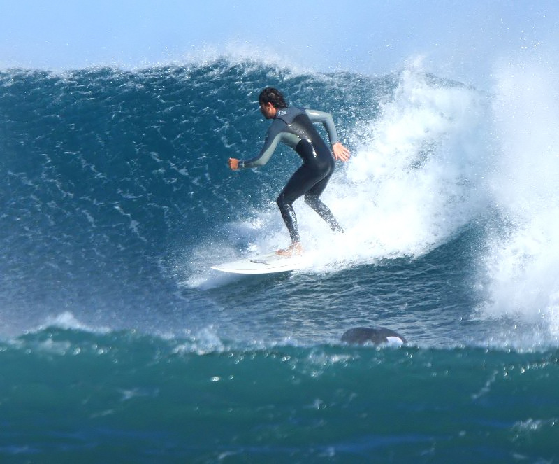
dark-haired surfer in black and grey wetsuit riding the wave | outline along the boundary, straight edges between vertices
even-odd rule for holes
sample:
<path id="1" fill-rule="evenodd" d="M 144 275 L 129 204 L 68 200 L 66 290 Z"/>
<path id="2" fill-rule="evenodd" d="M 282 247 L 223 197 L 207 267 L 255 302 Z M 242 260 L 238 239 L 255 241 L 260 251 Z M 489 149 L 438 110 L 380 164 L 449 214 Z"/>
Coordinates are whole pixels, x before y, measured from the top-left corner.
<path id="1" fill-rule="evenodd" d="M 264 146 L 256 157 L 249 160 L 229 158 L 228 164 L 233 171 L 263 166 L 270 160 L 279 142 L 293 148 L 303 159 L 303 164 L 293 173 L 276 200 L 291 238 L 291 246 L 276 253 L 286 256 L 300 254 L 303 247 L 300 243 L 297 217 L 293 211 L 293 202 L 299 197 L 305 195 L 305 203 L 314 209 L 333 231 L 343 232 L 328 206 L 321 202 L 319 197 L 334 172 L 335 160 L 349 160 L 349 150 L 337 139 L 330 113 L 288 106 L 282 93 L 272 87 L 262 90 L 259 105 L 264 118 L 273 120 L 268 128 Z M 332 151 L 312 122 L 322 122 L 328 133 Z"/>

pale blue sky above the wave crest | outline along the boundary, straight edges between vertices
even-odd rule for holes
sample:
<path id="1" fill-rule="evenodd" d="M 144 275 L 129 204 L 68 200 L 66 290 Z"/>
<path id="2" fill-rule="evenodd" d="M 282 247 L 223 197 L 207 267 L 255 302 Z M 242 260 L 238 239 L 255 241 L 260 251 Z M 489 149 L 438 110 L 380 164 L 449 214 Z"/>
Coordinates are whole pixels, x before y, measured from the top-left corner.
<path id="1" fill-rule="evenodd" d="M 242 49 L 383 74 L 421 55 L 461 80 L 559 43 L 559 1 L 0 0 L 0 67 L 125 68 Z M 521 59 L 521 58 L 520 58 Z"/>

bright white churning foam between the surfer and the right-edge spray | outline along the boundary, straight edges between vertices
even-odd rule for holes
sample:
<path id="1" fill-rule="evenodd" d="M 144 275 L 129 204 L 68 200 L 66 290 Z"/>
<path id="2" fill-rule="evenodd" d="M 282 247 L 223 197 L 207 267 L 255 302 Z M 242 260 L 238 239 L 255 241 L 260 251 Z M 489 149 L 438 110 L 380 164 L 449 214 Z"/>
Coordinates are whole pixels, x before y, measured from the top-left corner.
<path id="1" fill-rule="evenodd" d="M 417 256 L 483 213 L 485 120 L 475 90 L 405 69 L 378 117 L 358 127 L 344 181 L 355 237 L 377 256 Z"/>

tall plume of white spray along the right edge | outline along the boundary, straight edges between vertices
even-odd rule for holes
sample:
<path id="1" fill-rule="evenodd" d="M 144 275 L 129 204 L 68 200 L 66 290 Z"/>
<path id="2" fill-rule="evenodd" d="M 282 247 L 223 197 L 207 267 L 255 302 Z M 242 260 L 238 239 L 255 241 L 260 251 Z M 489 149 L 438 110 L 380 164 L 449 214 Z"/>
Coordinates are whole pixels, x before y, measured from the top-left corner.
<path id="1" fill-rule="evenodd" d="M 559 335 L 558 69 L 528 60 L 495 73 L 491 194 L 504 225 L 488 234 L 488 314 L 520 314 Z"/>

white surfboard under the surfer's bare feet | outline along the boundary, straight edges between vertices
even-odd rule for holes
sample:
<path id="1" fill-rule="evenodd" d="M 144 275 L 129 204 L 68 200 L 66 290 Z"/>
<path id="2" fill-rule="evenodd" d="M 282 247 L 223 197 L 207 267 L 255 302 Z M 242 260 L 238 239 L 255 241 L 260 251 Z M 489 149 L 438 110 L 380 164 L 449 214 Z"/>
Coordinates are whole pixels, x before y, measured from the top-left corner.
<path id="1" fill-rule="evenodd" d="M 294 271 L 307 265 L 310 265 L 310 260 L 305 258 L 305 255 L 279 256 L 275 253 L 269 253 L 224 262 L 221 265 L 212 266 L 212 269 L 233 274 L 273 274 L 274 272 Z"/>

